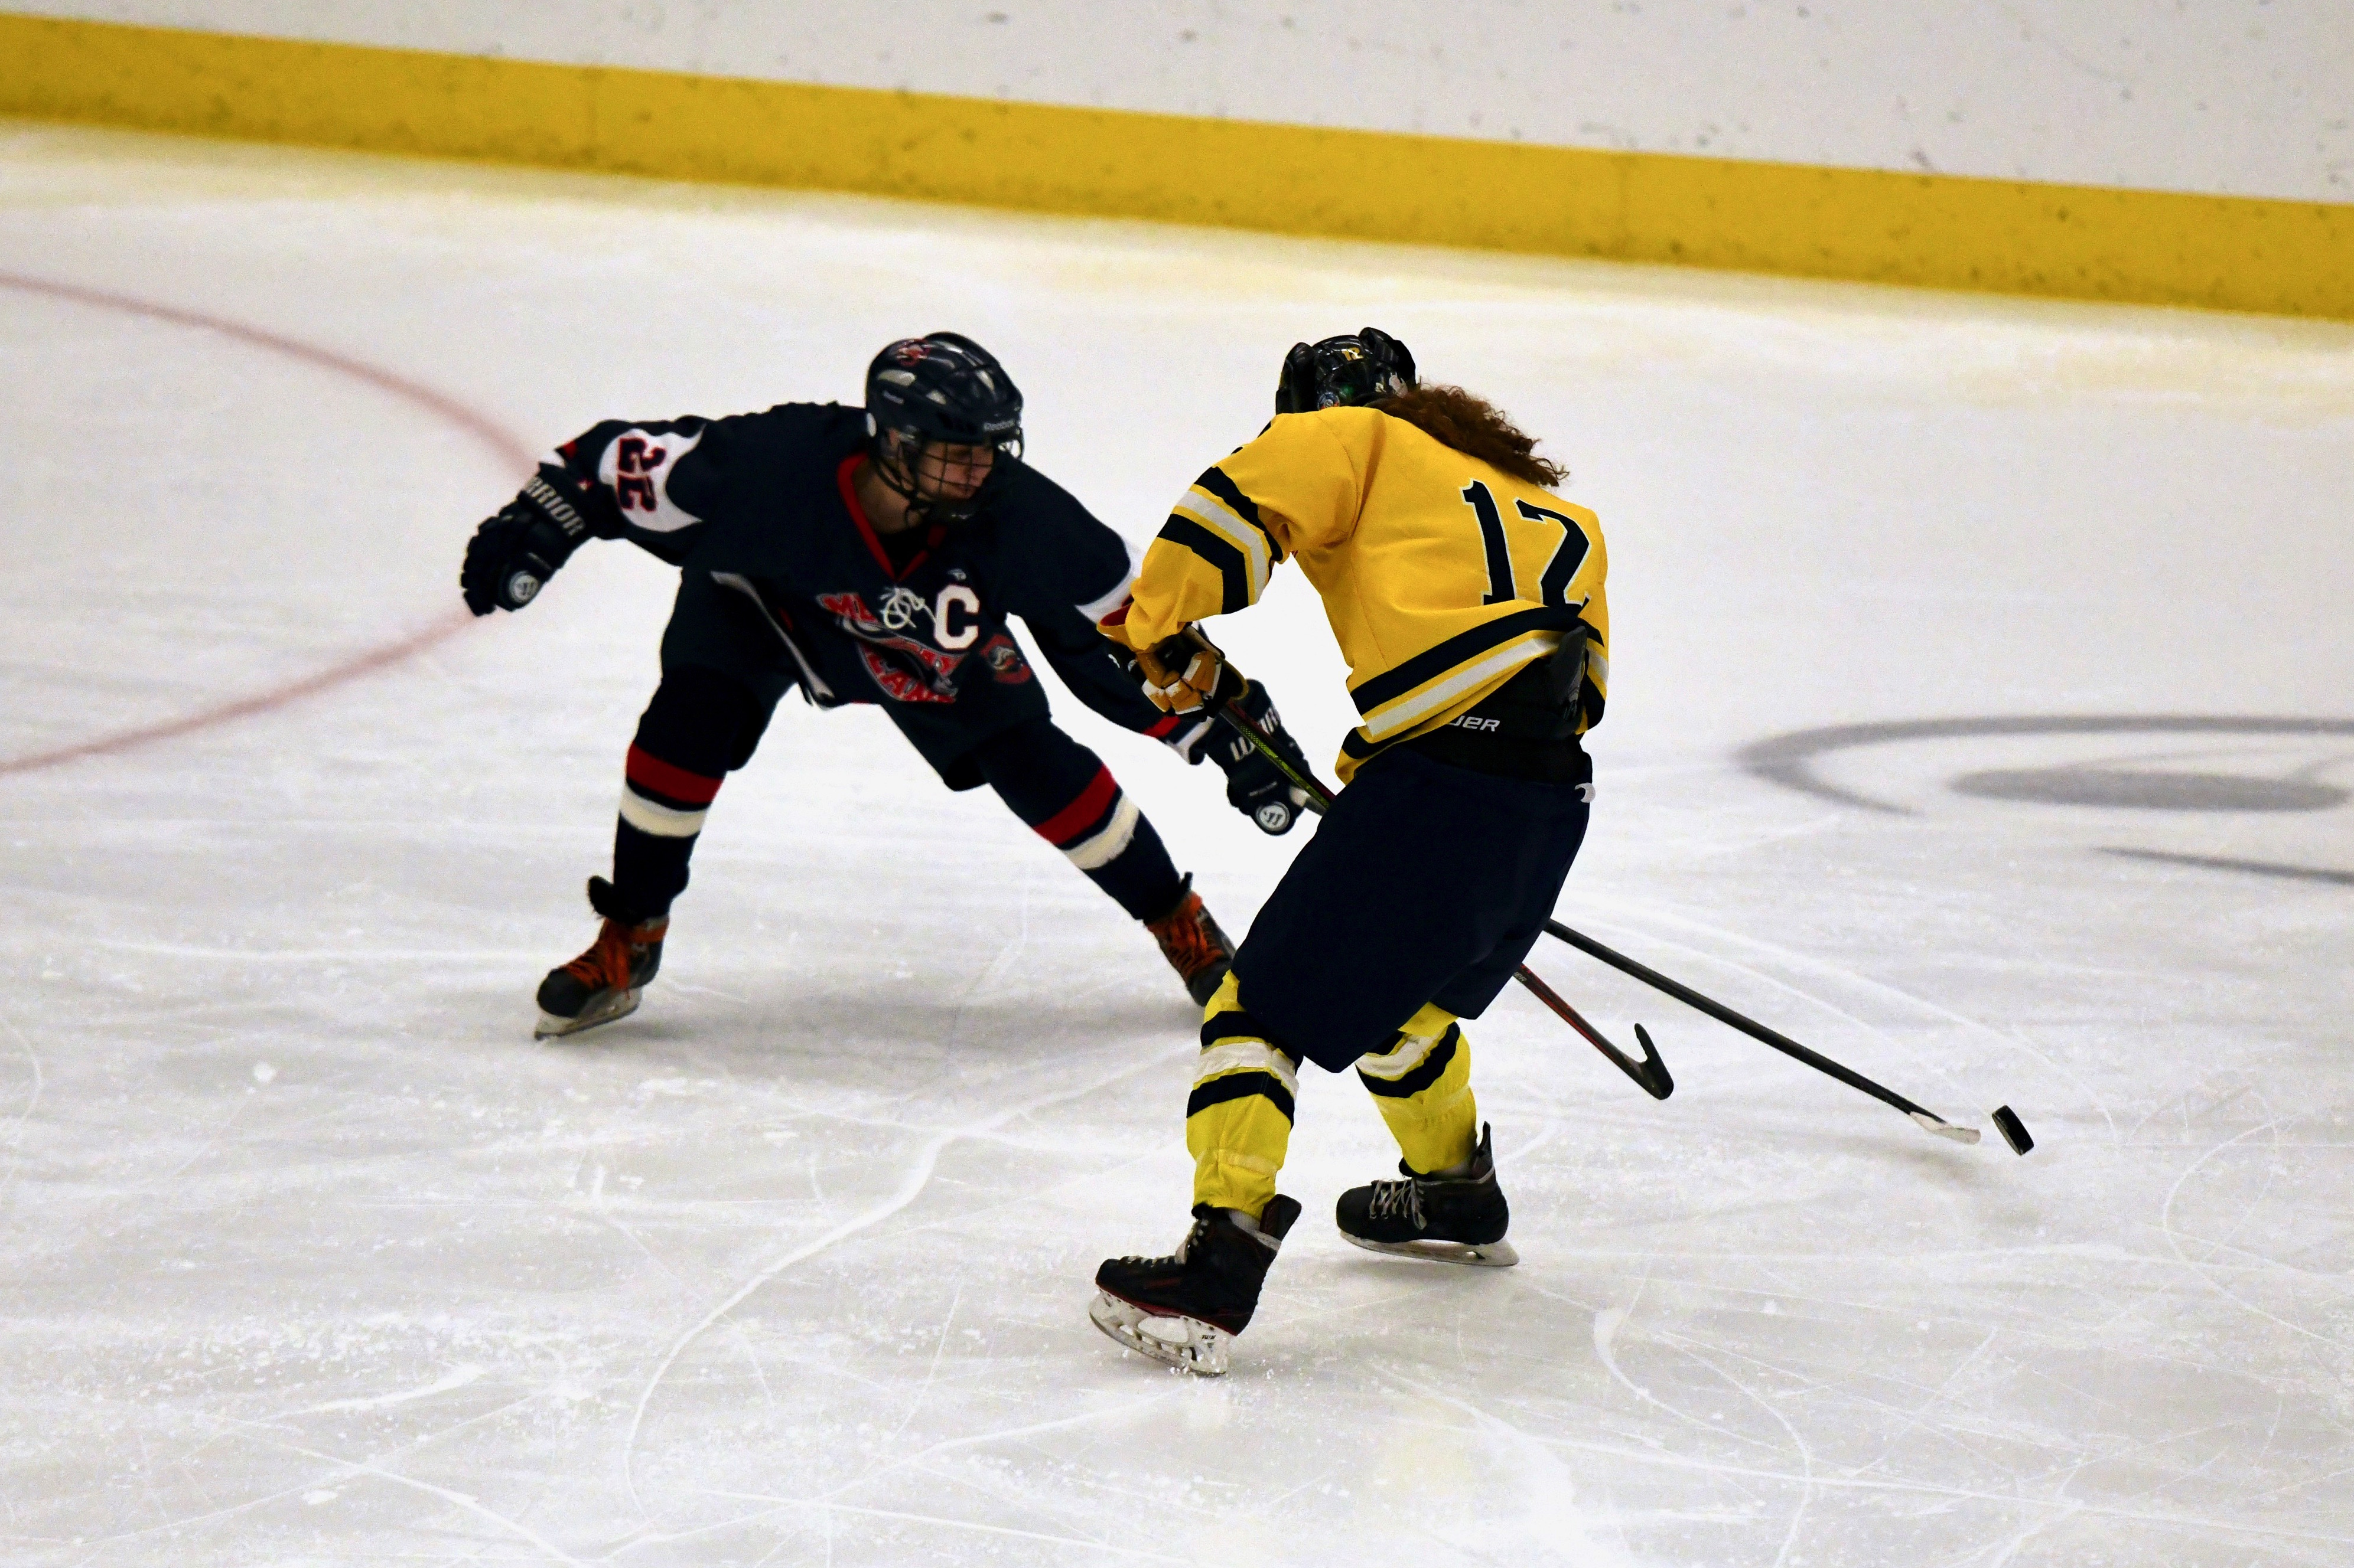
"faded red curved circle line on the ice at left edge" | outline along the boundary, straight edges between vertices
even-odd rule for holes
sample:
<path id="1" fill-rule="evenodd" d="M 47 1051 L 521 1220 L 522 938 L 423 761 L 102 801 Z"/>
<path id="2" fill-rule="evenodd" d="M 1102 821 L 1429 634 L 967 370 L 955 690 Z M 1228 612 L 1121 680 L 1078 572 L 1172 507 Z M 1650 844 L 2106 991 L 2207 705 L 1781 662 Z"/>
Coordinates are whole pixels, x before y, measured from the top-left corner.
<path id="1" fill-rule="evenodd" d="M 85 290 L 73 283 L 52 283 L 47 278 L 26 278 L 21 273 L 0 273 L 0 287 L 16 290 L 24 294 L 45 294 L 49 299 L 68 299 L 73 304 L 99 306 L 104 311 L 122 311 L 127 315 L 144 315 L 148 320 L 172 323 L 177 327 L 195 327 L 200 332 L 217 332 L 221 337 L 250 344 L 254 348 L 268 348 L 271 353 L 282 353 L 304 365 L 315 365 L 320 370 L 332 370 L 337 374 L 351 377 L 381 393 L 391 393 L 412 407 L 454 424 L 466 431 L 501 464 L 513 464 L 516 469 L 532 466 L 532 447 L 518 440 L 513 433 L 501 431 L 490 417 L 466 407 L 457 398 L 433 391 L 410 381 L 407 377 L 393 374 L 379 365 L 355 360 L 334 348 L 320 348 L 318 344 L 304 344 L 264 327 L 250 327 L 245 323 L 224 320 L 219 315 L 205 315 L 202 311 L 184 311 L 179 306 L 155 304 L 151 299 L 132 299 L 129 294 L 108 294 L 104 290 Z M 238 718 L 250 718 L 254 713 L 268 713 L 271 709 L 282 709 L 290 702 L 301 702 L 330 687 L 344 685 L 346 680 L 358 680 L 391 664 L 400 664 L 426 647 L 464 631 L 473 624 L 471 614 L 445 614 L 428 626 L 412 631 L 405 638 L 370 647 L 367 652 L 353 655 L 341 664 L 330 664 L 322 671 L 313 671 L 287 685 L 257 692 L 252 697 L 238 697 L 235 702 L 224 702 L 195 713 L 184 713 L 181 718 L 165 718 L 153 725 L 139 725 L 137 730 L 118 730 L 113 735 L 101 735 L 99 739 L 75 742 L 73 746 L 59 746 L 56 751 L 35 751 L 33 756 L 0 758 L 0 775 L 33 772 L 38 768 L 56 768 L 61 763 L 78 763 L 92 756 L 113 756 L 118 751 L 129 751 L 132 746 L 146 746 L 153 742 L 172 739 L 177 735 L 191 735 L 195 730 L 210 730 L 214 725 L 226 725 Z"/>

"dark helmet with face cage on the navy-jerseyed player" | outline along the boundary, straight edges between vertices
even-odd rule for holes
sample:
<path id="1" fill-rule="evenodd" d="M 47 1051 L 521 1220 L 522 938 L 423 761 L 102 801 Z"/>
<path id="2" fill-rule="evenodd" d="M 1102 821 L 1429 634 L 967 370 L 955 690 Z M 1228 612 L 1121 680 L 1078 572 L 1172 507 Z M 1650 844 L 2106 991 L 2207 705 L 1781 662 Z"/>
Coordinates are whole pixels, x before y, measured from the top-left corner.
<path id="1" fill-rule="evenodd" d="M 904 337 L 866 367 L 866 433 L 883 483 L 925 518 L 956 523 L 982 511 L 1022 461 L 1022 388 L 963 332 Z M 993 450 L 989 478 L 972 497 L 939 497 L 918 483 L 935 445 Z"/>

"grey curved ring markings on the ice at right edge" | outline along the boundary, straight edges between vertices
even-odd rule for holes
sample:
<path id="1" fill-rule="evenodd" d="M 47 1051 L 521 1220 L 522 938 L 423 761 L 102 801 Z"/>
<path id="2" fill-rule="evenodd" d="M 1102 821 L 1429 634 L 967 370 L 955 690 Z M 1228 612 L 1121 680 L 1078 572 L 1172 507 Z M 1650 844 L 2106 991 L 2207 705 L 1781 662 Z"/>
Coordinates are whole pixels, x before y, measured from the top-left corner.
<path id="1" fill-rule="evenodd" d="M 1869 812 L 1919 815 L 1860 789 L 1824 777 L 1822 763 L 1869 746 L 1902 746 L 1954 739 L 2081 739 L 2081 737 L 2267 737 L 2330 739 L 2354 737 L 2347 718 L 2232 718 L 2196 713 L 2088 713 L 2088 716 L 2017 716 L 2017 718 L 1919 718 L 1890 723 L 1827 725 L 1796 730 L 1742 746 L 1737 760 L 1751 777 L 1796 789 L 1817 800 L 1834 800 Z M 2048 763 L 2032 768 L 1980 768 L 1947 782 L 1959 796 L 2010 800 L 2020 805 L 2097 808 L 2126 812 L 2201 812 L 2201 815 L 2300 815 L 2328 812 L 2354 800 L 2354 789 L 2330 784 L 2319 775 L 2354 760 L 2345 746 L 2323 749 L 2302 763 L 2290 758 L 2288 772 L 2250 772 L 2250 758 L 2234 749 L 2210 749 L 2180 756 L 2126 756 Z M 2189 763 L 2189 765 L 2185 765 Z M 2215 768 L 2222 763 L 2225 768 Z M 2239 763 L 2236 768 L 2232 763 Z M 2114 822 L 2114 819 L 2112 819 Z M 2213 871 L 2279 876 L 2326 885 L 2354 885 L 2354 871 L 2335 866 L 2295 866 L 2227 855 L 2177 855 L 2142 848 L 2104 848 L 2149 862 L 2170 862 Z"/>

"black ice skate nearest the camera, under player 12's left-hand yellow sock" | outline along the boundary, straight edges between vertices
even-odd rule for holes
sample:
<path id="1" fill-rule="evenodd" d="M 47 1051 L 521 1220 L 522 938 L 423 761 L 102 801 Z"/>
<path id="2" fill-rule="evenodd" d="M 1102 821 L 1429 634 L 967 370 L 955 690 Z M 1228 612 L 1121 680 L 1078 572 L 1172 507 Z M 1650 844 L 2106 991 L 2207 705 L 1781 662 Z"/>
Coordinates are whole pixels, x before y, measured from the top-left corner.
<path id="1" fill-rule="evenodd" d="M 1095 1271 L 1088 1318 L 1142 1356 L 1219 1377 L 1226 1347 L 1257 1311 L 1266 1264 L 1297 1217 L 1297 1201 L 1274 1196 L 1248 1231 L 1233 1210 L 1196 1203 L 1193 1229 L 1170 1257 L 1111 1257 Z"/>

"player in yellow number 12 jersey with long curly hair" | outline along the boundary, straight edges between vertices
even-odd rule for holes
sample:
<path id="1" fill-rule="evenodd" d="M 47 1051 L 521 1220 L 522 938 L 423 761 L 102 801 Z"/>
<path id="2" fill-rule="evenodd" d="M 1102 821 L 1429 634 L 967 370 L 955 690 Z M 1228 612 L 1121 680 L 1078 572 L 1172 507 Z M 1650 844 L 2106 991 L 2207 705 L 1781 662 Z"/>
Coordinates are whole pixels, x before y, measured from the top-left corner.
<path id="1" fill-rule="evenodd" d="M 1248 687 L 1193 624 L 1250 607 L 1297 558 L 1363 720 L 1346 789 L 1205 1010 L 1193 1227 L 1175 1255 L 1097 1271 L 1090 1318 L 1121 1344 L 1226 1370 L 1299 1217 L 1276 1175 L 1302 1062 L 1356 1067 L 1403 1154 L 1403 1180 L 1339 1196 L 1349 1241 L 1516 1262 L 1459 1019 L 1528 956 L 1594 800 L 1580 737 L 1610 687 L 1605 556 L 1561 478 L 1492 405 L 1417 384 L 1394 337 L 1297 344 L 1276 419 L 1177 499 L 1104 617 L 1156 704 L 1217 709 Z"/>

